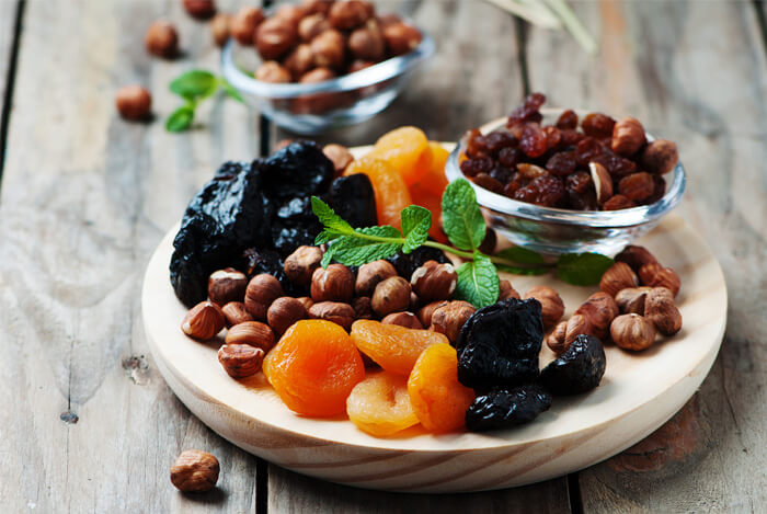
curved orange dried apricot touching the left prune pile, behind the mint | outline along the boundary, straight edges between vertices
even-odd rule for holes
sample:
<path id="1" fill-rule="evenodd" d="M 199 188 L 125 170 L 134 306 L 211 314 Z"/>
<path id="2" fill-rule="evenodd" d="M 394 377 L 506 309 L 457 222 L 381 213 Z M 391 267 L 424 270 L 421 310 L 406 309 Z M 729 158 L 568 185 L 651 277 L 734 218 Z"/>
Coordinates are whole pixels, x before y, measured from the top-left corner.
<path id="1" fill-rule="evenodd" d="M 365 173 L 370 179 L 376 194 L 378 224 L 400 228 L 402 226 L 400 213 L 412 204 L 402 176 L 388 162 L 367 156 L 346 167 L 345 175 L 354 173 Z"/>

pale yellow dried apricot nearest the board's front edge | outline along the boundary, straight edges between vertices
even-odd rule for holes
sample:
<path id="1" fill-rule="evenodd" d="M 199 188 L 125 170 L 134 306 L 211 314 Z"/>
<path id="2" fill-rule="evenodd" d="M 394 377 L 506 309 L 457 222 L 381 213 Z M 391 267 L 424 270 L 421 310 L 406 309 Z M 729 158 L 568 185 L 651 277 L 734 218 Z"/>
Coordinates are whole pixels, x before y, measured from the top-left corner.
<path id="1" fill-rule="evenodd" d="M 408 379 L 387 372 L 365 378 L 346 399 L 346 413 L 357 427 L 386 437 L 419 423 L 410 404 Z"/>

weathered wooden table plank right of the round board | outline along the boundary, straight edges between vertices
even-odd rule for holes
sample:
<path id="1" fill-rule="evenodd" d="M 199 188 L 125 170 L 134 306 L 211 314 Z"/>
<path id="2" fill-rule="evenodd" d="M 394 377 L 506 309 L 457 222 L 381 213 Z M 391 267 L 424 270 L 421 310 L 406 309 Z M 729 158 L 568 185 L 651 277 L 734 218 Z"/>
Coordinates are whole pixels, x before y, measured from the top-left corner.
<path id="1" fill-rule="evenodd" d="M 648 439 L 580 473 L 584 510 L 756 512 L 767 501 L 767 71 L 754 5 L 575 7 L 600 55 L 533 30 L 531 88 L 553 105 L 636 116 L 677 142 L 689 173 L 679 212 L 708 239 L 730 293 L 725 342 L 700 392 Z"/>

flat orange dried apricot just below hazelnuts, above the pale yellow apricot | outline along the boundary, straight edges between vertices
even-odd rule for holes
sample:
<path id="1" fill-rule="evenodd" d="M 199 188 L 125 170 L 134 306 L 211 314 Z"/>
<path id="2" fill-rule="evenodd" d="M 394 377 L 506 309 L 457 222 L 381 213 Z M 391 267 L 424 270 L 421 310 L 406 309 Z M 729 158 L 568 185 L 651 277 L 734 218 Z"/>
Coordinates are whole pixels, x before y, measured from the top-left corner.
<path id="1" fill-rule="evenodd" d="M 419 355 L 432 344 L 448 343 L 447 338 L 437 332 L 371 320 L 355 321 L 351 335 L 360 352 L 398 375 L 409 375 Z"/>

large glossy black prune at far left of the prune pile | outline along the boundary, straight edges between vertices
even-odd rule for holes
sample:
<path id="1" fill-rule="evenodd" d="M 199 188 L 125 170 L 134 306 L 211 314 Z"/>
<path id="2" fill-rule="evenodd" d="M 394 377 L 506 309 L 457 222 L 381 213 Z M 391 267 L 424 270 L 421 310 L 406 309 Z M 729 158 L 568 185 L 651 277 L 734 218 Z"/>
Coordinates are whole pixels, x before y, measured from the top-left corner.
<path id="1" fill-rule="evenodd" d="M 173 240 L 171 284 L 192 307 L 207 296 L 208 275 L 227 267 L 248 247 L 267 244 L 271 204 L 249 163 L 225 163 L 192 198 Z"/>

